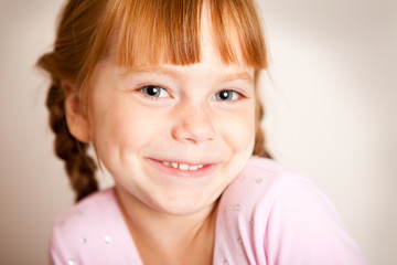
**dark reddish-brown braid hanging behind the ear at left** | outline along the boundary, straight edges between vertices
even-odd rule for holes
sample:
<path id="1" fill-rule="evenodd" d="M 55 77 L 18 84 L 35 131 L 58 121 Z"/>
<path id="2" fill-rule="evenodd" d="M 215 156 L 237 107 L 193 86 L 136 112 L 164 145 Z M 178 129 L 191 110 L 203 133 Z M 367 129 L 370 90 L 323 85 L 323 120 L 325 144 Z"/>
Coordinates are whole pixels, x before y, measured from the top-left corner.
<path id="1" fill-rule="evenodd" d="M 54 149 L 56 156 L 65 161 L 76 201 L 79 201 L 98 190 L 95 179 L 96 165 L 87 155 L 87 144 L 78 141 L 69 134 L 64 102 L 60 82 L 53 82 L 49 89 L 46 106 L 50 110 L 50 126 L 55 134 Z"/>

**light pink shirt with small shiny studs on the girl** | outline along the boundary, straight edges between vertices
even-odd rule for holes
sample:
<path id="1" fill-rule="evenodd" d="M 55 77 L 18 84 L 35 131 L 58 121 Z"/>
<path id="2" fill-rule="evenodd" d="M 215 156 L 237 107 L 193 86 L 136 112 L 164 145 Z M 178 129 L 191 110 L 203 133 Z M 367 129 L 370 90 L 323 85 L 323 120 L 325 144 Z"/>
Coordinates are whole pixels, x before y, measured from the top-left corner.
<path id="1" fill-rule="evenodd" d="M 55 222 L 53 264 L 142 264 L 114 189 Z M 251 158 L 221 197 L 213 264 L 367 264 L 330 200 L 308 179 Z"/>

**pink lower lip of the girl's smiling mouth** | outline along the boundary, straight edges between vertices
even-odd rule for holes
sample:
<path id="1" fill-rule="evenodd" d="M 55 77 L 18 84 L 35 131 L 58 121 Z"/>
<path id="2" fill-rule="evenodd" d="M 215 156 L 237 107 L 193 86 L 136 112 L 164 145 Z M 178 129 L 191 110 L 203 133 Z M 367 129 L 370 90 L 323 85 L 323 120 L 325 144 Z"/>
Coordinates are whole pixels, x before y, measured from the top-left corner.
<path id="1" fill-rule="evenodd" d="M 165 174 L 175 176 L 175 177 L 181 177 L 181 178 L 203 178 L 203 177 L 212 173 L 216 168 L 216 163 L 208 163 L 204 168 L 201 168 L 197 170 L 181 170 L 179 168 L 168 167 L 163 162 L 160 162 L 154 159 L 149 158 L 147 160 L 150 165 L 152 165 L 154 168 L 157 168 L 160 172 L 163 172 Z"/>

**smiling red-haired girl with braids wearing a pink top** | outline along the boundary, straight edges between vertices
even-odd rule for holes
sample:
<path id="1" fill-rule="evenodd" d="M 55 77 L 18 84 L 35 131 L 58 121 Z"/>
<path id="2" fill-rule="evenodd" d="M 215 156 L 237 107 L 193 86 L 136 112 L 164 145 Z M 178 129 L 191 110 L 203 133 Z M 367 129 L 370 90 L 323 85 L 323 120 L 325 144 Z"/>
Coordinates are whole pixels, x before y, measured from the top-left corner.
<path id="1" fill-rule="evenodd" d="M 78 201 L 53 264 L 366 264 L 330 201 L 268 159 L 253 0 L 69 0 L 39 65 Z"/>

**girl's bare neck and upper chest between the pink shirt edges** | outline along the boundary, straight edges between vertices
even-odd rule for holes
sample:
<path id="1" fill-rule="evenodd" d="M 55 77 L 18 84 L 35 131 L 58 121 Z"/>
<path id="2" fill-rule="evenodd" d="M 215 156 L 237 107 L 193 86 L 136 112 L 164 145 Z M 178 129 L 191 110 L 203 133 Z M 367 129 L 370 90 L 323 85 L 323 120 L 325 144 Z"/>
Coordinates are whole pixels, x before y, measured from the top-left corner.
<path id="1" fill-rule="evenodd" d="M 124 188 L 116 187 L 116 194 L 144 264 L 158 262 L 152 253 L 163 258 L 161 264 L 185 264 L 194 253 L 206 259 L 198 264 L 212 263 L 216 203 L 192 214 L 174 215 L 151 209 Z"/>

